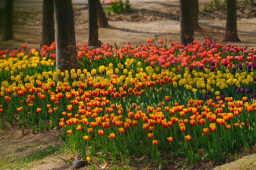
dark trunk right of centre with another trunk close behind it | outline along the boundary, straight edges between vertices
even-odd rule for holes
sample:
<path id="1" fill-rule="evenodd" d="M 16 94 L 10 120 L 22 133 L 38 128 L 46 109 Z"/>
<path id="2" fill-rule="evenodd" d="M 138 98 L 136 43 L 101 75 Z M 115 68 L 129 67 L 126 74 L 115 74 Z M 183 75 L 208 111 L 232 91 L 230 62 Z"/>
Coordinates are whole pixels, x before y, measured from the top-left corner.
<path id="1" fill-rule="evenodd" d="M 180 39 L 182 45 L 187 45 L 194 41 L 191 6 L 192 0 L 180 0 Z"/>

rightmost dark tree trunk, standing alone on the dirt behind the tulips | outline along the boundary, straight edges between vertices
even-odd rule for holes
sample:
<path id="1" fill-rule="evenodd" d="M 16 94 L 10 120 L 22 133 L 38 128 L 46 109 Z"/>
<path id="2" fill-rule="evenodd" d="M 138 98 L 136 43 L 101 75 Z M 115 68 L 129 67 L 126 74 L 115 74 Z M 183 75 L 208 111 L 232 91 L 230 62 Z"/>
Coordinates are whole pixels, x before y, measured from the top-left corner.
<path id="1" fill-rule="evenodd" d="M 240 41 L 236 26 L 236 0 L 226 1 L 226 33 L 225 41 Z"/>

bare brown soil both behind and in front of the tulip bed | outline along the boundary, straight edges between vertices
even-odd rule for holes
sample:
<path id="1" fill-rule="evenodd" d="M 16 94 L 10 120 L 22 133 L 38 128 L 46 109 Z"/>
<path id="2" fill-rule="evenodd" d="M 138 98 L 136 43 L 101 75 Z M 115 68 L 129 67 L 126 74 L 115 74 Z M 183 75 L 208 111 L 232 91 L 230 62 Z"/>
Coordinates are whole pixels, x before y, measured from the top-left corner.
<path id="1" fill-rule="evenodd" d="M 88 41 L 88 1 L 73 0 L 74 18 L 76 27 L 76 43 L 82 45 Z M 121 47 L 125 46 L 128 41 L 132 45 L 146 44 L 147 39 L 153 39 L 156 43 L 160 39 L 171 39 L 180 41 L 180 23 L 179 23 L 179 1 L 178 0 L 130 0 L 132 4 L 131 13 L 111 14 L 108 16 L 108 28 L 99 29 L 99 39 L 103 43 L 116 44 Z M 209 38 L 213 42 L 223 43 L 223 34 L 225 31 L 225 6 L 220 6 L 219 10 L 207 0 L 199 0 L 200 13 L 199 25 L 201 31 L 195 31 L 195 40 L 203 41 Z M 0 8 L 4 4 L 0 2 Z M 238 0 L 237 5 L 237 26 L 238 37 L 241 42 L 235 42 L 238 46 L 256 47 L 256 4 L 246 4 Z M 3 9 L 0 9 L 0 35 L 3 34 Z M 14 0 L 14 40 L 2 41 L 0 39 L 0 50 L 18 49 L 22 44 L 27 43 L 28 49 L 40 48 L 42 36 L 42 0 Z M 227 43 L 227 42 L 226 42 Z M 232 43 L 234 44 L 234 43 Z M 0 160 L 23 158 L 29 154 L 46 148 L 48 145 L 63 145 L 60 141 L 60 131 L 45 131 L 44 133 L 31 134 L 25 129 L 24 135 L 18 125 L 7 125 L 5 131 L 0 131 Z M 34 146 L 26 148 L 26 146 Z M 26 148 L 21 150 L 21 148 Z M 17 150 L 20 150 L 19 152 Z M 189 167 L 188 164 L 180 165 L 183 160 L 175 160 L 174 164 L 166 165 L 168 169 L 234 169 L 241 168 L 255 169 L 256 155 L 253 154 L 255 149 L 243 151 L 236 156 L 228 156 L 227 162 L 220 164 L 212 162 L 200 162 L 196 166 Z M 234 161 L 236 158 L 242 159 Z M 66 152 L 51 154 L 42 160 L 32 162 L 29 169 L 35 170 L 73 170 L 73 166 L 60 160 L 70 159 Z M 72 156 L 71 160 L 75 160 Z M 231 162 L 233 161 L 233 162 Z M 137 162 L 140 162 L 137 160 Z M 139 164 L 132 164 L 129 168 L 145 169 L 145 158 Z M 241 162 L 243 162 L 241 164 Z M 105 168 L 111 168 L 113 165 L 108 164 Z M 154 163 L 148 164 L 149 169 L 158 169 Z M 101 167 L 98 164 L 98 167 Z M 1 169 L 1 168 L 0 168 Z M 81 169 L 90 169 L 84 166 Z M 103 169 L 103 168 L 102 168 Z"/>

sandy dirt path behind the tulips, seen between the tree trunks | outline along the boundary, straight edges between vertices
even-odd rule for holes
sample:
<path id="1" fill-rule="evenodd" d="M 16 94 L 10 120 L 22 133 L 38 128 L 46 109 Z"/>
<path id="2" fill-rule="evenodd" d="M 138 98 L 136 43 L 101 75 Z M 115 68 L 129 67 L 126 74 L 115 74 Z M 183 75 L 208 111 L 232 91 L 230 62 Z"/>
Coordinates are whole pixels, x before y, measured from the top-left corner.
<path id="1" fill-rule="evenodd" d="M 39 48 L 42 36 L 42 15 L 40 12 L 42 10 L 42 0 L 32 0 L 31 2 L 14 0 L 14 2 L 14 12 L 18 15 L 14 25 L 15 39 L 0 41 L 0 50 L 17 49 L 24 43 L 28 43 L 28 48 Z M 82 45 L 88 41 L 88 1 L 73 0 L 73 2 L 76 43 L 77 45 Z M 155 37 L 157 37 L 157 40 L 167 38 L 174 42 L 180 41 L 178 0 L 130 0 L 130 2 L 135 13 L 130 17 L 139 17 L 140 20 L 143 19 L 144 21 L 126 21 L 131 18 L 125 18 L 122 21 L 109 21 L 110 27 L 99 29 L 99 39 L 103 43 L 114 44 L 116 42 L 118 46 L 122 46 L 129 41 L 132 45 L 140 45 L 141 43 L 146 43 L 147 39 L 154 39 Z M 200 6 L 203 6 L 206 2 L 208 1 L 199 0 Z M 3 2 L 0 2 L 0 6 L 4 6 Z M 20 11 L 24 12 L 20 14 Z M 34 13 L 27 14 L 26 12 Z M 241 39 L 241 42 L 236 43 L 238 46 L 256 46 L 255 24 L 255 18 L 238 19 L 238 36 Z M 210 17 L 207 20 L 199 20 L 199 25 L 206 33 L 195 32 L 195 40 L 202 41 L 205 37 L 218 38 L 219 41 L 223 40 L 225 20 L 220 20 L 218 17 Z M 212 32 L 213 30 L 215 30 L 214 33 Z"/>

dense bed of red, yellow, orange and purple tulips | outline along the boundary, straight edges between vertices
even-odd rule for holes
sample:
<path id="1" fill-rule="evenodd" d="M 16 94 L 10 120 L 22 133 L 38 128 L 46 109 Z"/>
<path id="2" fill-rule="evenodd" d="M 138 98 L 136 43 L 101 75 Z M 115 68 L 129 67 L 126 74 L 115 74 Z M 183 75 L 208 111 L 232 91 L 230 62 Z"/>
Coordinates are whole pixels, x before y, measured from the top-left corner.
<path id="1" fill-rule="evenodd" d="M 255 145 L 256 51 L 209 40 L 184 46 L 77 46 L 78 70 L 55 70 L 56 44 L 0 51 L 0 127 L 62 129 L 94 165 L 150 157 L 222 162 Z M 62 80 L 62 81 L 60 81 Z"/>

